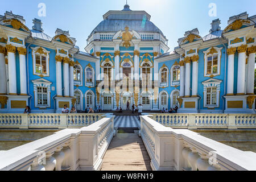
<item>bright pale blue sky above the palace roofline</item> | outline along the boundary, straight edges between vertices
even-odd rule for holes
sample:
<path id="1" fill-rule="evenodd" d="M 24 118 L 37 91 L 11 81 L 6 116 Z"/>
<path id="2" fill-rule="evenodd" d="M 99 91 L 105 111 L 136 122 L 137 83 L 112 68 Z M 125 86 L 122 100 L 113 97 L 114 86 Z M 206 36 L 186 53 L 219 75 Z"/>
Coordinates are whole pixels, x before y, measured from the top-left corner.
<path id="1" fill-rule="evenodd" d="M 39 3 L 46 5 L 45 17 L 38 16 Z M 13 11 L 22 15 L 28 28 L 32 28 L 32 19 L 41 19 L 44 32 L 51 37 L 56 28 L 69 30 L 80 51 L 84 51 L 86 39 L 103 20 L 102 15 L 109 10 L 122 10 L 125 3 L 126 0 L 8 0 L 1 2 L 0 14 Z M 209 16 L 210 3 L 216 4 L 217 16 Z M 230 16 L 245 11 L 249 16 L 256 14 L 255 0 L 128 0 L 128 4 L 131 10 L 144 10 L 151 15 L 151 21 L 169 40 L 170 51 L 185 31 L 198 28 L 200 35 L 205 36 L 213 19 L 219 18 L 224 29 Z"/>

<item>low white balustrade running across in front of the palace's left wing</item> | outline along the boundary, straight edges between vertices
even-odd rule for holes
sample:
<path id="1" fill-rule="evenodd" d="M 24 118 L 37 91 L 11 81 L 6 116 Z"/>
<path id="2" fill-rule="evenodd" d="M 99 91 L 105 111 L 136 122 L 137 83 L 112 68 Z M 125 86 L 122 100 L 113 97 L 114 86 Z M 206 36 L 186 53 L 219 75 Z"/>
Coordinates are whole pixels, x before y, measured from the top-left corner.
<path id="1" fill-rule="evenodd" d="M 104 114 L 0 114 L 0 128 L 80 128 L 104 117 Z"/>

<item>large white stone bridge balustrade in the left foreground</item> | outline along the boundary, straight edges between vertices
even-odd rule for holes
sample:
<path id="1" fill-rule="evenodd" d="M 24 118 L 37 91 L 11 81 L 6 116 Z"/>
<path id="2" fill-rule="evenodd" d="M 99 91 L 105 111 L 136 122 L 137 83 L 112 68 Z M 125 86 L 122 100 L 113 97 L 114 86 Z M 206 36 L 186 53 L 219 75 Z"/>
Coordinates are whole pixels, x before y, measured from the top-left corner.
<path id="1" fill-rule="evenodd" d="M 87 127 L 61 130 L 9 151 L 0 151 L 0 171 L 99 170 L 116 132 L 113 119 L 113 115 L 107 114 Z"/>

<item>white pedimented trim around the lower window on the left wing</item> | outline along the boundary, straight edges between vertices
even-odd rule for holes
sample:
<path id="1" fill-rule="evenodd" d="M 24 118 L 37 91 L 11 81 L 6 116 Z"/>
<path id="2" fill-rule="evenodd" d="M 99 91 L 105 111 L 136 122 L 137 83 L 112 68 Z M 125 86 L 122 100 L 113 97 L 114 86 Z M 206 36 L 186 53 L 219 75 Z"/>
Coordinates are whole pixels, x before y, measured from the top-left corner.
<path id="1" fill-rule="evenodd" d="M 40 78 L 38 80 L 32 80 L 34 84 L 34 101 L 35 101 L 35 107 L 37 108 L 48 108 L 51 107 L 51 85 L 52 82 L 45 80 L 44 78 Z M 38 105 L 38 87 L 46 87 L 47 88 L 47 100 L 48 105 Z"/>

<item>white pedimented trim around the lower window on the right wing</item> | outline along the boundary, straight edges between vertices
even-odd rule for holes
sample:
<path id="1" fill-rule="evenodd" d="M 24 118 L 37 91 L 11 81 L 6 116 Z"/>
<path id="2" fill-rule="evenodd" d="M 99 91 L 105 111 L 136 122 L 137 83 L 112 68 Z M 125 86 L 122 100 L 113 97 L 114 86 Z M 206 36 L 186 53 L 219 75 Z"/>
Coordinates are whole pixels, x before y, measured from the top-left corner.
<path id="1" fill-rule="evenodd" d="M 204 85 L 204 107 L 214 109 L 216 107 L 220 107 L 220 84 L 222 80 L 217 80 L 214 78 L 210 78 L 207 81 L 202 82 Z M 217 94 L 216 94 L 216 105 L 207 105 L 207 88 L 209 87 L 217 87 Z"/>

